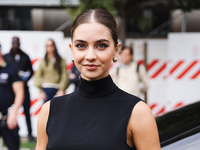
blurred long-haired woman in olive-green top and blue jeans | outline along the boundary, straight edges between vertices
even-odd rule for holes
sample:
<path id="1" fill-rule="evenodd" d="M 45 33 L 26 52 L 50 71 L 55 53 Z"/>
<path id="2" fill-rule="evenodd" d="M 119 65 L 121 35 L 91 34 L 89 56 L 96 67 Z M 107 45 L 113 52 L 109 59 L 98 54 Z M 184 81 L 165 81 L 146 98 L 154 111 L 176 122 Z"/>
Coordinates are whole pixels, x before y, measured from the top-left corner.
<path id="1" fill-rule="evenodd" d="M 34 84 L 40 89 L 40 98 L 45 102 L 55 95 L 64 95 L 68 87 L 66 63 L 52 39 L 46 42 L 46 55 L 35 74 Z"/>

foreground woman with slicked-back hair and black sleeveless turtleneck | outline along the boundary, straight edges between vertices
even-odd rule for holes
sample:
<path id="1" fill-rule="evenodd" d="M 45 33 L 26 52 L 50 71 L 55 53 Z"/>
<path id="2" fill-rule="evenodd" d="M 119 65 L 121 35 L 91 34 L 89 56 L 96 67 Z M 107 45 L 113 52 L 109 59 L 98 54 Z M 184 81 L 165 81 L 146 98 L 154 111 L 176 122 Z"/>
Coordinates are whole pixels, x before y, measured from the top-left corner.
<path id="1" fill-rule="evenodd" d="M 87 10 L 71 29 L 79 88 L 43 105 L 36 150 L 160 150 L 149 107 L 120 90 L 109 75 L 121 46 L 111 14 Z"/>

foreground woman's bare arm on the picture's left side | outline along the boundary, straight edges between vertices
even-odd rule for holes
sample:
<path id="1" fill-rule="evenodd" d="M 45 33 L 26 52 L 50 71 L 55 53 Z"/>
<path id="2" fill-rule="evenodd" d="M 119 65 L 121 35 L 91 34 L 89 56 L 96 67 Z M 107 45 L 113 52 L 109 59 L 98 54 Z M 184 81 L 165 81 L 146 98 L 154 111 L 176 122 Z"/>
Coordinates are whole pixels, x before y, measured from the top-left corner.
<path id="1" fill-rule="evenodd" d="M 46 150 L 48 136 L 46 133 L 46 125 L 49 117 L 50 101 L 46 102 L 40 110 L 38 123 L 37 123 L 37 144 L 36 150 Z"/>

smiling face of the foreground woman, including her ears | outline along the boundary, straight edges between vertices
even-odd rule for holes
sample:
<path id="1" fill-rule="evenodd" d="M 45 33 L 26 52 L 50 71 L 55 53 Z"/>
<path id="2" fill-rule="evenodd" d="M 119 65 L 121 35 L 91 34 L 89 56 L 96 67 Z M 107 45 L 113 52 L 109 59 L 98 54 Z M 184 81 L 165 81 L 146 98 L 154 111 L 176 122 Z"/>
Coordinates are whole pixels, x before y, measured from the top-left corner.
<path id="1" fill-rule="evenodd" d="M 118 56 L 121 44 L 117 47 L 109 29 L 99 23 L 79 25 L 69 44 L 76 67 L 86 80 L 98 80 L 109 75 L 113 57 Z"/>

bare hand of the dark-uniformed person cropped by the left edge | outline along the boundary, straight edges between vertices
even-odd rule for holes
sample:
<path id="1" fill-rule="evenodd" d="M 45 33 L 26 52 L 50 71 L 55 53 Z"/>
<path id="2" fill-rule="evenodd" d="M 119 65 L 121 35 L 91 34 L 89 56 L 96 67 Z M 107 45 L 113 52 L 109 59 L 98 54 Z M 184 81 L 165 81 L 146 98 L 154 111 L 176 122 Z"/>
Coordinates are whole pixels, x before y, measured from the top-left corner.
<path id="1" fill-rule="evenodd" d="M 8 129 L 12 130 L 16 128 L 17 127 L 17 113 L 12 111 L 8 115 L 8 119 L 6 123 L 7 123 Z"/>

